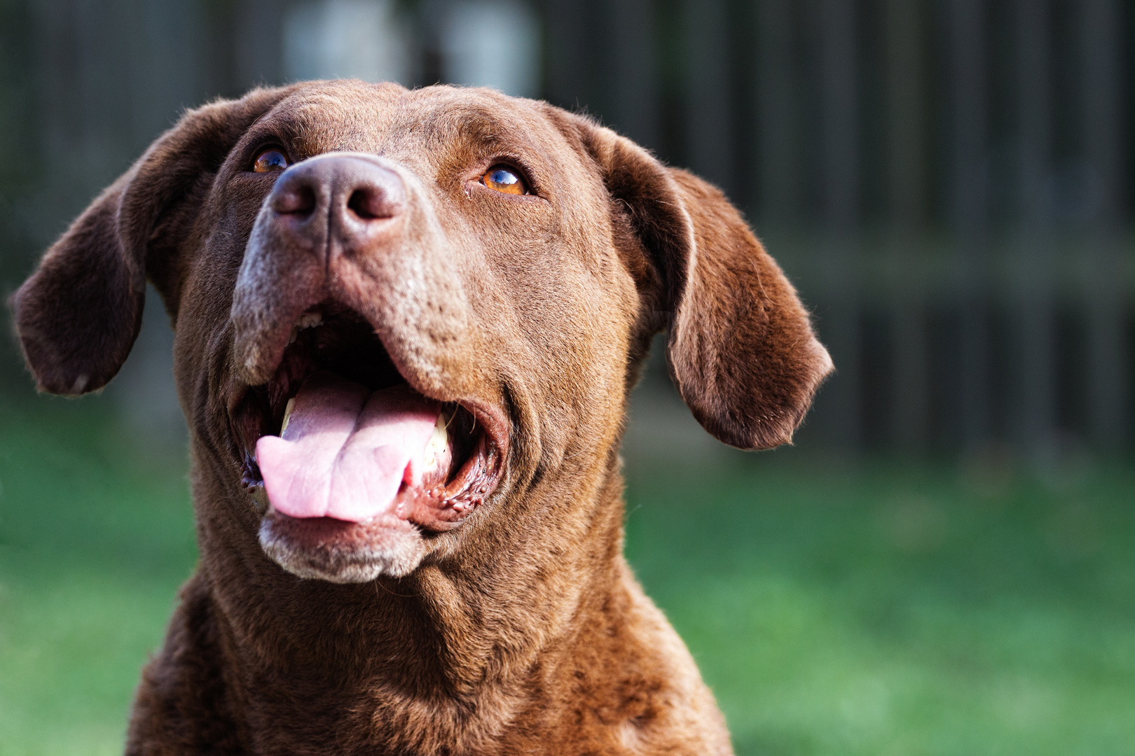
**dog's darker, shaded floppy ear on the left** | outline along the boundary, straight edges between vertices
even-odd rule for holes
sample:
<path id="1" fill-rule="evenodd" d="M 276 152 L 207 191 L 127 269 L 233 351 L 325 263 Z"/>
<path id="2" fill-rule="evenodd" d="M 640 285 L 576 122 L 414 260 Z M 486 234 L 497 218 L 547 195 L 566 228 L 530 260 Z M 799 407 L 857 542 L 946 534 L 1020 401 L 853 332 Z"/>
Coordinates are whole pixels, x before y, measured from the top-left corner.
<path id="1" fill-rule="evenodd" d="M 118 373 L 142 325 L 148 273 L 176 314 L 174 249 L 188 228 L 165 220 L 200 206 L 241 135 L 286 93 L 255 90 L 187 112 L 48 249 L 9 300 L 41 391 L 77 396 Z"/>

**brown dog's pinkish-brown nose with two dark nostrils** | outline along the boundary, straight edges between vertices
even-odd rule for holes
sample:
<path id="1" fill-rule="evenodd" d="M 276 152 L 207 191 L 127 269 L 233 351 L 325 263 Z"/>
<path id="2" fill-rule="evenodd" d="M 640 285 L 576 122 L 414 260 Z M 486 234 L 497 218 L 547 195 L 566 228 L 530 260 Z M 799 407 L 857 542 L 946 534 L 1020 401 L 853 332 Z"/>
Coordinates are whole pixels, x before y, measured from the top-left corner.
<path id="1" fill-rule="evenodd" d="M 272 219 L 296 241 L 322 252 L 355 252 L 406 205 L 402 178 L 364 155 L 323 154 L 295 163 L 268 198 Z"/>

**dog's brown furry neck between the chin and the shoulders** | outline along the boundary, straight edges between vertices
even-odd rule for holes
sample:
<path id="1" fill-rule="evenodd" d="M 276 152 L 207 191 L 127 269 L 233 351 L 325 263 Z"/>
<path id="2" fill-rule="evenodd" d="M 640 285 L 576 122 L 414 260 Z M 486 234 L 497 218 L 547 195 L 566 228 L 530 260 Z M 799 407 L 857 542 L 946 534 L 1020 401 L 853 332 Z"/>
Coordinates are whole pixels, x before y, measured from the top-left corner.
<path id="1" fill-rule="evenodd" d="M 510 499 L 507 536 L 472 538 L 405 578 L 353 585 L 285 572 L 263 555 L 249 517 L 225 517 L 216 499 L 201 506 L 219 481 L 195 470 L 199 579 L 221 638 L 218 662 L 238 688 L 234 717 L 255 739 L 255 722 L 311 721 L 319 702 L 326 714 L 316 721 L 340 729 L 353 719 L 360 733 L 406 738 L 406 748 L 491 740 L 581 634 L 638 591 L 622 555 L 617 465 L 611 455 L 590 486 L 536 485 Z"/>

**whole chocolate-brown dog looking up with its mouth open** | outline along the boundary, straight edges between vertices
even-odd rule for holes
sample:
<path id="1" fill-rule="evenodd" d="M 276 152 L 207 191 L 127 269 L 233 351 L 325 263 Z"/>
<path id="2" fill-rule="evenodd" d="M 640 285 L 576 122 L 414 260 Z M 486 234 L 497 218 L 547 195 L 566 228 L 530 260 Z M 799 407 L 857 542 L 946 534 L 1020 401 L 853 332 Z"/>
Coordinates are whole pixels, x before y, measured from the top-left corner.
<path id="1" fill-rule="evenodd" d="M 310 83 L 188 112 L 12 307 L 44 391 L 176 332 L 201 564 L 128 754 L 728 754 L 622 555 L 650 337 L 722 441 L 831 369 L 720 192 L 543 102 Z M 286 427 L 284 427 L 286 426 Z"/>

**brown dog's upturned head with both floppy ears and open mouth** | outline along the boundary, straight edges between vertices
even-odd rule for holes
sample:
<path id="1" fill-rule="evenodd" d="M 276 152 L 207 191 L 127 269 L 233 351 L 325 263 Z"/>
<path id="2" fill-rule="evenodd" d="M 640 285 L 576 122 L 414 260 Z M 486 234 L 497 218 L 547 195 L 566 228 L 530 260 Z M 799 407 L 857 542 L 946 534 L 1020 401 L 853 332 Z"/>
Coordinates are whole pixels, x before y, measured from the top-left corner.
<path id="1" fill-rule="evenodd" d="M 717 189 L 487 90 L 317 82 L 188 112 L 12 297 L 41 390 L 115 375 L 148 279 L 202 527 L 339 583 L 594 499 L 659 330 L 693 415 L 743 449 L 789 441 L 831 369 Z"/>

